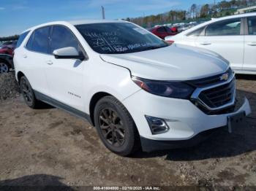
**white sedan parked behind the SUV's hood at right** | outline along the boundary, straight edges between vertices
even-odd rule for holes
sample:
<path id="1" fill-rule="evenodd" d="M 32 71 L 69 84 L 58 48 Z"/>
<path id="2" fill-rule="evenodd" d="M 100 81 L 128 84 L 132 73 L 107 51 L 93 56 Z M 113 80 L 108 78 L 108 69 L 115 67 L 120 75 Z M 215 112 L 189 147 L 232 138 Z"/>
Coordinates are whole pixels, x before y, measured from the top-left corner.
<path id="1" fill-rule="evenodd" d="M 236 73 L 256 74 L 256 13 L 213 19 L 165 39 L 217 52 Z"/>

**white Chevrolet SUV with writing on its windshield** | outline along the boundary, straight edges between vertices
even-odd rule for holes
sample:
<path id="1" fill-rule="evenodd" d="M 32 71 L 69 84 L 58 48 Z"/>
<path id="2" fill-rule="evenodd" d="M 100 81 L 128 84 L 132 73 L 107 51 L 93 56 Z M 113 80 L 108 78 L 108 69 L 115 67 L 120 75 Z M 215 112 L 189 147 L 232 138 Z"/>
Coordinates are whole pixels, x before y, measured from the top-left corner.
<path id="1" fill-rule="evenodd" d="M 15 72 L 26 104 L 83 117 L 118 155 L 190 147 L 251 112 L 246 99 L 235 109 L 235 77 L 221 57 L 170 46 L 132 23 L 47 23 L 19 44 Z"/>

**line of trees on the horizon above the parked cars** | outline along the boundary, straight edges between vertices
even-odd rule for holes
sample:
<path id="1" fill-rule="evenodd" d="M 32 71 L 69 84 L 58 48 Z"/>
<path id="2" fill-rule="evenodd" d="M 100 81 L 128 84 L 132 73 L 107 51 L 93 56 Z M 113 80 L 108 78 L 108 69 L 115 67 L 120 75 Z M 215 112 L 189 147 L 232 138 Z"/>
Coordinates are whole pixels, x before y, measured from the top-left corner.
<path id="1" fill-rule="evenodd" d="M 149 15 L 146 17 L 127 17 L 124 20 L 131 21 L 140 26 L 151 27 L 156 24 L 173 23 L 184 20 L 199 20 L 210 17 L 222 17 L 233 15 L 236 9 L 256 5 L 256 0 L 231 0 L 220 1 L 212 4 L 192 4 L 188 10 L 170 10 L 158 15 Z"/>

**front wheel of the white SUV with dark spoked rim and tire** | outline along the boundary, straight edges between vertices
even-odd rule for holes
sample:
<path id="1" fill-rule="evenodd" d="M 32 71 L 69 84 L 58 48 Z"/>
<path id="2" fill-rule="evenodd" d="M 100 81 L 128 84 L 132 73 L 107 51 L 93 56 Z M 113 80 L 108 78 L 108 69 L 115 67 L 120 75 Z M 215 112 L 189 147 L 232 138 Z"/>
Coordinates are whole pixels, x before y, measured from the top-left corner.
<path id="1" fill-rule="evenodd" d="M 100 99 L 94 109 L 94 122 L 105 147 L 121 156 L 140 148 L 140 137 L 131 115 L 113 96 Z"/>

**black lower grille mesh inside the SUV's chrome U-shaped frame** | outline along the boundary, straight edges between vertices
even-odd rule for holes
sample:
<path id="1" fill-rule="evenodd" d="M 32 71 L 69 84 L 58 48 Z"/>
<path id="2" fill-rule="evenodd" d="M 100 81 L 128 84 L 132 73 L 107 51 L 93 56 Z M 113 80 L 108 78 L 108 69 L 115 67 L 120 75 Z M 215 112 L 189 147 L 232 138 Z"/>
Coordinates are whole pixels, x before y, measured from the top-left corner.
<path id="1" fill-rule="evenodd" d="M 215 109 L 233 101 L 235 88 L 235 79 L 233 79 L 225 85 L 202 91 L 198 98 L 207 106 Z"/>

